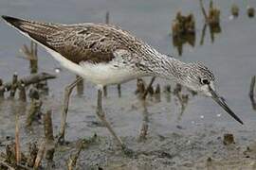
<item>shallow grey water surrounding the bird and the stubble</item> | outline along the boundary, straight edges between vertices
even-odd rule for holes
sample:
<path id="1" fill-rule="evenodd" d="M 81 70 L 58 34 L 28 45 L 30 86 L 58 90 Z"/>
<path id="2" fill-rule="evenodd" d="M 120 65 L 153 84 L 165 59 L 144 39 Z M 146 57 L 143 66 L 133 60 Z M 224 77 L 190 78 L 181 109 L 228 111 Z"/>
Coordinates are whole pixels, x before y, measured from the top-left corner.
<path id="1" fill-rule="evenodd" d="M 46 22 L 73 24 L 82 22 L 102 23 L 104 22 L 105 12 L 110 11 L 110 23 L 130 30 L 137 37 L 155 46 L 160 52 L 173 55 L 174 58 L 184 61 L 200 60 L 208 65 L 217 78 L 216 86 L 219 93 L 226 97 L 230 108 L 245 122 L 245 126 L 240 126 L 210 98 L 197 95 L 190 98 L 184 112 L 180 115 L 181 106 L 177 98 L 172 96 L 171 101 L 168 101 L 165 98 L 165 93 L 162 93 L 161 102 L 149 101 L 150 140 L 149 144 L 145 144 L 145 150 L 154 144 L 162 144 L 157 138 L 154 138 L 159 134 L 166 135 L 169 141 L 172 141 L 172 133 L 176 130 L 182 135 L 181 141 L 186 141 L 189 138 L 194 143 L 198 142 L 199 145 L 200 140 L 197 138 L 200 135 L 197 134 L 206 135 L 206 137 L 202 137 L 202 145 L 208 147 L 208 144 L 205 143 L 212 139 L 210 137 L 210 129 L 216 132 L 215 136 L 222 136 L 223 129 L 225 129 L 224 131 L 235 134 L 238 144 L 245 145 L 255 139 L 256 112 L 252 110 L 247 93 L 250 78 L 256 73 L 256 21 L 255 18 L 247 18 L 246 8 L 248 4 L 246 1 L 237 0 L 232 2 L 239 6 L 240 15 L 237 19 L 229 20 L 229 10 L 232 3 L 221 0 L 214 1 L 215 5 L 221 9 L 222 32 L 215 35 L 214 42 L 210 42 L 208 28 L 203 45 L 200 45 L 199 42 L 204 26 L 204 18 L 198 1 L 2 0 L 0 1 L 0 14 Z M 250 6 L 256 7 L 256 1 L 249 1 L 249 3 Z M 205 6 L 208 7 L 208 3 L 205 3 Z M 178 10 L 186 14 L 192 12 L 196 18 L 195 46 L 192 47 L 189 44 L 185 44 L 181 57 L 178 57 L 177 50 L 173 46 L 172 37 L 169 36 L 171 23 Z M 27 38 L 22 37 L 3 22 L 0 23 L 0 37 L 0 76 L 4 80 L 9 80 L 14 72 L 21 76 L 28 75 L 27 60 L 17 58 L 22 56 L 19 48 L 24 43 L 29 43 Z M 52 59 L 44 49 L 40 48 L 39 71 L 54 73 L 54 68 L 58 67 L 60 67 L 59 63 Z M 49 81 L 50 93 L 44 103 L 44 110 L 49 108 L 53 110 L 53 122 L 56 126 L 55 133 L 58 132 L 57 129 L 60 124 L 64 86 L 73 81 L 74 78 L 74 75 L 63 69 L 58 74 L 57 79 Z M 170 84 L 170 82 L 162 79 L 157 79 L 157 82 L 162 85 L 162 89 L 164 85 Z M 172 84 L 172 88 L 174 89 L 174 84 Z M 129 145 L 132 144 L 135 148 L 138 148 L 140 145 L 137 145 L 134 139 L 137 137 L 141 124 L 142 109 L 137 96 L 134 94 L 136 81 L 123 84 L 121 89 L 122 97 L 119 98 L 116 86 L 109 87 L 108 97 L 104 102 L 104 106 L 113 127 L 117 128 L 118 133 L 127 140 Z M 186 91 L 184 92 L 187 93 Z M 94 132 L 97 132 L 100 136 L 109 136 L 108 132 L 102 127 L 92 126 L 92 122 L 97 120 L 94 114 L 95 100 L 95 88 L 86 81 L 84 94 L 81 97 L 75 93 L 72 95 L 66 130 L 68 140 L 74 141 Z M 13 105 L 19 105 L 19 103 L 9 100 L 0 102 L 0 138 L 14 134 L 13 112 L 15 110 L 13 111 Z M 25 112 L 26 110 L 22 111 L 22 115 L 25 115 Z M 21 118 L 25 119 L 25 116 Z M 183 129 L 177 129 L 176 126 L 183 127 Z M 29 141 L 27 140 L 27 135 L 31 139 L 40 137 L 40 133 L 35 132 L 29 135 L 24 131 L 22 138 L 25 143 Z M 133 139 L 132 142 L 129 141 L 129 138 Z M 216 142 L 215 138 L 214 140 L 213 143 L 218 146 L 218 141 Z M 104 144 L 102 147 L 104 147 Z M 167 150 L 173 152 L 173 147 L 174 145 Z M 210 151 L 212 149 L 210 147 Z M 195 151 L 205 154 L 200 149 L 198 151 L 195 148 Z M 218 151 L 220 152 L 220 150 Z M 183 153 L 182 151 L 180 152 Z M 216 155 L 219 158 L 223 157 L 223 154 Z M 84 164 L 86 164 L 85 158 L 89 159 L 84 157 L 82 159 Z M 186 161 L 184 157 L 180 158 L 183 158 L 181 161 Z M 115 159 L 112 160 L 117 161 Z M 188 158 L 188 160 L 194 161 L 192 158 Z M 171 159 L 171 161 L 176 160 Z M 133 163 L 133 161 L 129 162 Z"/>

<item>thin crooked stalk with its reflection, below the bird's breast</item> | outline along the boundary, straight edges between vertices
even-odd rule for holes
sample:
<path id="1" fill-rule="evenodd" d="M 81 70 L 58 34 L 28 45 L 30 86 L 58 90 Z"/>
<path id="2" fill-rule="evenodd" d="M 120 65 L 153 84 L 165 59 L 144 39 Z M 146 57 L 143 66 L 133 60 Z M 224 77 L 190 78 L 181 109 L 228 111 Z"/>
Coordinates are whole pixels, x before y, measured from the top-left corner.
<path id="1" fill-rule="evenodd" d="M 149 115 L 148 114 L 149 113 L 148 113 L 147 106 L 146 106 L 146 97 L 147 97 L 149 89 L 151 88 L 154 81 L 155 81 L 155 76 L 152 77 L 149 85 L 146 88 L 145 93 L 143 93 L 143 95 L 141 97 L 141 103 L 142 103 L 142 108 L 143 108 L 143 113 L 142 113 L 143 114 L 143 120 L 142 120 L 142 126 L 139 130 L 138 142 L 146 140 L 146 136 L 148 134 L 148 128 L 149 128 L 149 125 L 148 125 L 149 124 Z"/>

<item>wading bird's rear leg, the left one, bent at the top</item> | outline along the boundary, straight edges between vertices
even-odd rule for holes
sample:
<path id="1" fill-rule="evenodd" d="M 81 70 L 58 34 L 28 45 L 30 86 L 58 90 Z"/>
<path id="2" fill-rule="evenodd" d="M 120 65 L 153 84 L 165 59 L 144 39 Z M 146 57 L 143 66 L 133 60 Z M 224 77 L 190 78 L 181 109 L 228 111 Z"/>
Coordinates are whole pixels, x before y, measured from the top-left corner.
<path id="1" fill-rule="evenodd" d="M 58 136 L 58 143 L 63 144 L 64 143 L 64 130 L 66 126 L 66 117 L 67 117 L 67 110 L 68 110 L 68 103 L 69 103 L 69 97 L 72 93 L 72 90 L 76 85 L 82 81 L 82 77 L 78 76 L 75 81 L 70 83 L 64 88 L 64 106 L 63 106 L 63 113 L 62 113 L 62 120 L 61 120 L 61 128 Z"/>

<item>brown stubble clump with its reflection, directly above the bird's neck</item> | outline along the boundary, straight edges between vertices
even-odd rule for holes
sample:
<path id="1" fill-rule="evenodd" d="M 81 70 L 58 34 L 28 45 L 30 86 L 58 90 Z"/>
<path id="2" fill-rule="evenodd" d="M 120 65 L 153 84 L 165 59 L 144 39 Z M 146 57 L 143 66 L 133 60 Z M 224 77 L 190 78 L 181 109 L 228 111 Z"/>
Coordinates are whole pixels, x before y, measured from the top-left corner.
<path id="1" fill-rule="evenodd" d="M 177 47 L 178 55 L 182 55 L 183 44 L 189 43 L 194 46 L 195 43 L 195 22 L 192 14 L 188 16 L 181 15 L 177 12 L 176 18 L 172 24 L 173 44 Z"/>

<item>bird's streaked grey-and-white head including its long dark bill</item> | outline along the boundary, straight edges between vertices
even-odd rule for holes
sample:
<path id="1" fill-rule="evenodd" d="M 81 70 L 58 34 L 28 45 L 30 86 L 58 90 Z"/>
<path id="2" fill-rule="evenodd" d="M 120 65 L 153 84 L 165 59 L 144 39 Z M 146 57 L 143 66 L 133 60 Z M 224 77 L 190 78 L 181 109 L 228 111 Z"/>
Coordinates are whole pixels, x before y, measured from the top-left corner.
<path id="1" fill-rule="evenodd" d="M 225 99 L 221 97 L 214 88 L 214 75 L 208 67 L 200 62 L 189 63 L 186 74 L 183 75 L 182 83 L 192 91 L 202 93 L 206 96 L 210 96 L 217 104 L 219 104 L 224 110 L 226 110 L 230 116 L 232 116 L 239 123 L 243 122 L 238 118 L 235 113 L 229 109 Z"/>

